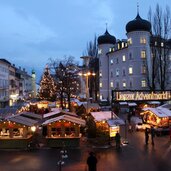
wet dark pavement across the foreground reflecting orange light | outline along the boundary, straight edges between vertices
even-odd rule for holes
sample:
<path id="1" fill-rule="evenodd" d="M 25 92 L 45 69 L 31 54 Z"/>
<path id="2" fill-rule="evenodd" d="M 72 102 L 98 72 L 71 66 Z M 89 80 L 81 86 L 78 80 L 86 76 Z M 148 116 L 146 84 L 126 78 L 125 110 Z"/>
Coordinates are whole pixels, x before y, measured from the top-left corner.
<path id="1" fill-rule="evenodd" d="M 125 136 L 124 127 L 121 129 Z M 82 143 L 68 149 L 68 159 L 62 171 L 86 171 L 89 151 L 98 158 L 97 171 L 170 171 L 171 144 L 168 136 L 155 137 L 155 146 L 144 145 L 144 133 L 127 134 L 129 144 L 117 151 L 114 146 L 94 147 Z M 37 151 L 0 150 L 0 171 L 58 171 L 59 149 Z"/>

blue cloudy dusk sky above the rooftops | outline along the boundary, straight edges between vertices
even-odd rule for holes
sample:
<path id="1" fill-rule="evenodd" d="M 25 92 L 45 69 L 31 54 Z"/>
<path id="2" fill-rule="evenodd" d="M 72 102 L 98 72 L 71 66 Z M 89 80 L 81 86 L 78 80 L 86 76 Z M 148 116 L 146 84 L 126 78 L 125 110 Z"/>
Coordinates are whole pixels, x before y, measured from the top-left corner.
<path id="1" fill-rule="evenodd" d="M 87 42 L 110 34 L 126 38 L 125 26 L 139 13 L 147 19 L 149 7 L 164 9 L 171 0 L 0 0 L 0 58 L 34 69 L 40 78 L 48 59 L 80 56 Z"/>

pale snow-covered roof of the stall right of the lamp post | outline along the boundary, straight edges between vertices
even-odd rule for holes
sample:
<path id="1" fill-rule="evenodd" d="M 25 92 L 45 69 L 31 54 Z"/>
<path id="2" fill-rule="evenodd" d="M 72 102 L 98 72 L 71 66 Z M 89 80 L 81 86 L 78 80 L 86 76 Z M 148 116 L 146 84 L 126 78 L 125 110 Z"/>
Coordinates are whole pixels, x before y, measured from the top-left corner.
<path id="1" fill-rule="evenodd" d="M 111 111 L 101 111 L 101 112 L 91 112 L 91 115 L 94 117 L 95 121 L 103 121 L 111 119 Z M 118 116 L 113 113 L 113 118 Z"/>

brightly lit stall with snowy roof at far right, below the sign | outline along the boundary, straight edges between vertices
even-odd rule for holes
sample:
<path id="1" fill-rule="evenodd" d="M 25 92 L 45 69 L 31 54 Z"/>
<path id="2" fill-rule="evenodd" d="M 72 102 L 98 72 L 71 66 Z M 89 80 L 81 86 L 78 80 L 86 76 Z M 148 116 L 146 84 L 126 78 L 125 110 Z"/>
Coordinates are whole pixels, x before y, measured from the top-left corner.
<path id="1" fill-rule="evenodd" d="M 169 127 L 171 125 L 171 110 L 164 107 L 144 108 L 141 112 L 144 123 L 155 127 Z"/>

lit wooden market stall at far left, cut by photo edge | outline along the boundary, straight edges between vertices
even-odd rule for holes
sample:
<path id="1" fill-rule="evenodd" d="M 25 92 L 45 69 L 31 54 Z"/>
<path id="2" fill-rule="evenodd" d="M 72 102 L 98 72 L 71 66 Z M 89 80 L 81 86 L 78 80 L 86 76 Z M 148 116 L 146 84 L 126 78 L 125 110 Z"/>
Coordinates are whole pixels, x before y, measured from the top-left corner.
<path id="1" fill-rule="evenodd" d="M 40 119 L 40 115 L 26 112 L 0 121 L 0 148 L 27 148 Z"/>

